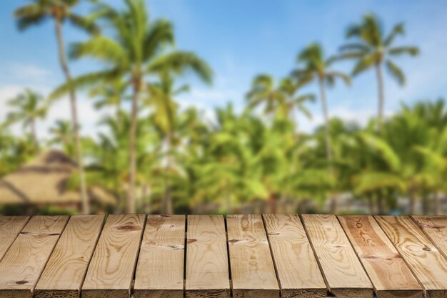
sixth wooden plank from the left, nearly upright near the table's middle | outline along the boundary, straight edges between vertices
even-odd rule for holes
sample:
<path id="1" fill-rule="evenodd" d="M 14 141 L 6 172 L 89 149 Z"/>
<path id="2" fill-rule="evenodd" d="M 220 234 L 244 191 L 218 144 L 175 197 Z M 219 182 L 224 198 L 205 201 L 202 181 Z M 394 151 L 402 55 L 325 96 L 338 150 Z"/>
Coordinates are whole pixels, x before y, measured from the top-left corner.
<path id="1" fill-rule="evenodd" d="M 224 217 L 189 215 L 186 243 L 186 297 L 230 297 Z"/>

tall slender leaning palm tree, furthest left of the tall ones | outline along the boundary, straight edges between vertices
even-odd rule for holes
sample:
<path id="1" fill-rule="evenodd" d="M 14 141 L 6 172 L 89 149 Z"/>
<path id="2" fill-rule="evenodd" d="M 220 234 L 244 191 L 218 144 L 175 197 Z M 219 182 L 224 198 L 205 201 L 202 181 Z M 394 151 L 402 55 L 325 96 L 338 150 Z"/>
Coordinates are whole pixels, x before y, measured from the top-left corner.
<path id="1" fill-rule="evenodd" d="M 98 31 L 95 24 L 79 14 L 74 13 L 74 7 L 80 0 L 34 0 L 30 4 L 21 6 L 14 11 L 19 30 L 28 29 L 29 26 L 39 25 L 48 19 L 54 20 L 56 39 L 59 51 L 59 63 L 67 82 L 71 81 L 71 72 L 66 61 L 66 52 L 64 38 L 62 36 L 62 25 L 69 21 L 72 25 L 96 33 Z M 82 160 L 81 140 L 79 139 L 79 121 L 76 106 L 76 93 L 73 88 L 69 89 L 69 98 L 71 105 L 71 119 L 73 121 L 74 140 L 76 144 L 76 159 L 78 162 L 79 181 L 81 187 L 82 211 L 84 214 L 90 213 L 89 199 L 84 176 L 84 162 Z"/>

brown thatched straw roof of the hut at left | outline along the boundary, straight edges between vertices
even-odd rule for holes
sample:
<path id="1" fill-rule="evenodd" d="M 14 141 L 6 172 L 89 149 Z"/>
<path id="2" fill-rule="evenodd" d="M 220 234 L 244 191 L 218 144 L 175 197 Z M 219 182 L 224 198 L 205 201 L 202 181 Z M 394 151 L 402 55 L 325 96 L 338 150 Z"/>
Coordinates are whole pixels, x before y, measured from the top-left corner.
<path id="1" fill-rule="evenodd" d="M 76 163 L 59 150 L 44 152 L 34 161 L 0 180 L 0 204 L 80 204 L 79 192 L 66 189 Z M 91 202 L 116 204 L 101 187 L 88 189 Z"/>

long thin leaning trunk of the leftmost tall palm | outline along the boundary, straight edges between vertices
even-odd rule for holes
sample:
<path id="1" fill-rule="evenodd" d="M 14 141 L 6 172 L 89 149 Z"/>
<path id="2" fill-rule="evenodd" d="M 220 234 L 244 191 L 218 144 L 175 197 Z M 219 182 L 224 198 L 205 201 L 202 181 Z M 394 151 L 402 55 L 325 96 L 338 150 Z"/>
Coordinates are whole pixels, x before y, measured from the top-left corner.
<path id="1" fill-rule="evenodd" d="M 62 39 L 61 20 L 56 19 L 56 38 L 59 48 L 59 61 L 61 63 L 62 71 L 64 71 L 65 79 L 71 82 L 71 74 L 69 66 L 66 62 L 64 40 Z M 70 87 L 69 91 L 70 106 L 71 106 L 71 121 L 73 121 L 74 142 L 76 146 L 76 162 L 78 163 L 79 183 L 81 187 L 81 204 L 82 213 L 90 213 L 89 197 L 87 196 L 86 177 L 84 173 L 84 162 L 82 160 L 82 146 L 79 138 L 79 121 L 78 111 L 76 106 L 76 93 L 74 87 Z"/>

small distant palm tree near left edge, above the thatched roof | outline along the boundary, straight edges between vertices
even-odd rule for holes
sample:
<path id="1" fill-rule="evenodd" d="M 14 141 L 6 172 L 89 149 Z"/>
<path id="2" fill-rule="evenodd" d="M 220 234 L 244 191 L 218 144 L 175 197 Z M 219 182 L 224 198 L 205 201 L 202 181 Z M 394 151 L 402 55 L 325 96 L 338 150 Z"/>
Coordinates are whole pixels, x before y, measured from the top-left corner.
<path id="1" fill-rule="evenodd" d="M 25 89 L 23 93 L 11 99 L 8 104 L 14 110 L 6 116 L 6 122 L 12 124 L 21 121 L 24 127 L 29 126 L 34 146 L 38 149 L 39 141 L 36 133 L 36 120 L 44 119 L 48 111 L 44 98 L 31 89 Z"/>

